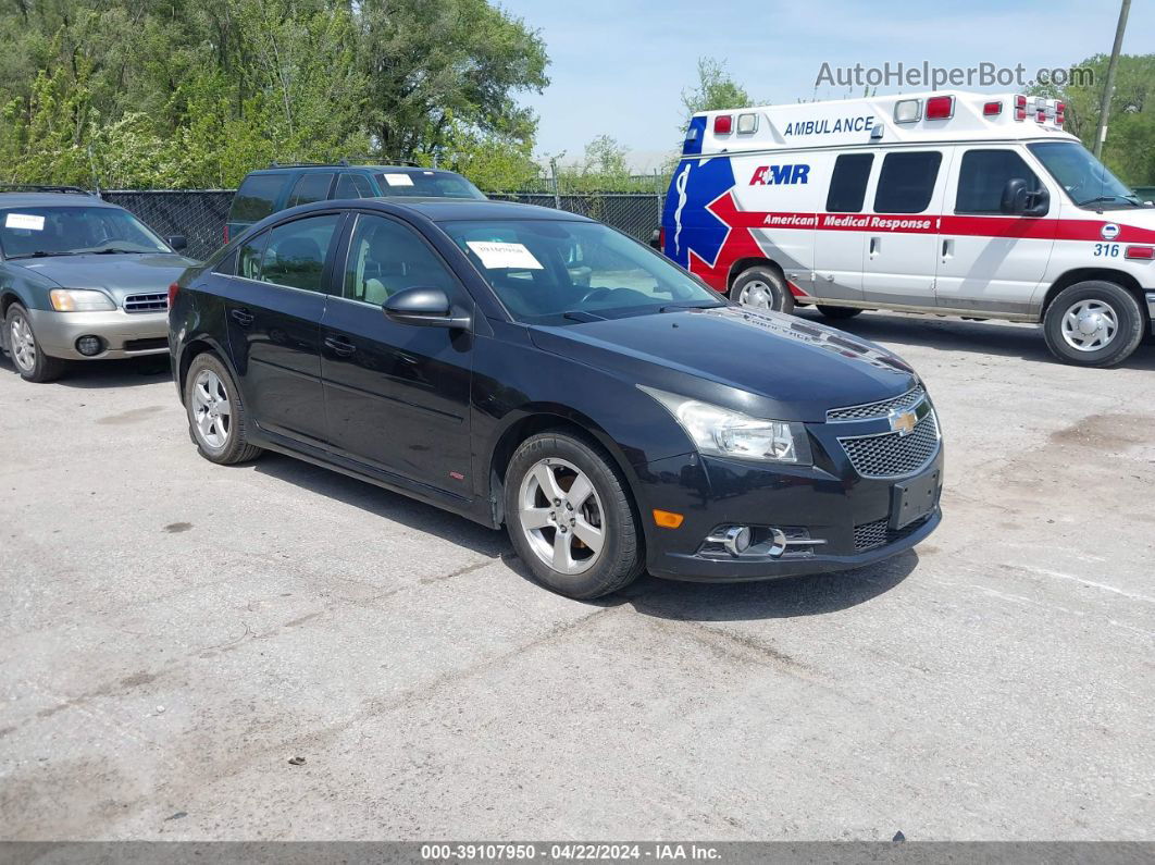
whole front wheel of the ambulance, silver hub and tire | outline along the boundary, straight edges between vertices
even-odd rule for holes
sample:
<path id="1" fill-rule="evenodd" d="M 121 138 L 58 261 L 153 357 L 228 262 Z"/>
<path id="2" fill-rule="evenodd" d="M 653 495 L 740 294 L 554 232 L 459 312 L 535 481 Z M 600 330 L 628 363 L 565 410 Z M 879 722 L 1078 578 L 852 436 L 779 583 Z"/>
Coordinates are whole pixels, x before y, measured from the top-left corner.
<path id="1" fill-rule="evenodd" d="M 1078 282 L 1059 292 L 1043 315 L 1046 348 L 1078 366 L 1115 366 L 1143 338 L 1139 299 L 1102 279 Z"/>

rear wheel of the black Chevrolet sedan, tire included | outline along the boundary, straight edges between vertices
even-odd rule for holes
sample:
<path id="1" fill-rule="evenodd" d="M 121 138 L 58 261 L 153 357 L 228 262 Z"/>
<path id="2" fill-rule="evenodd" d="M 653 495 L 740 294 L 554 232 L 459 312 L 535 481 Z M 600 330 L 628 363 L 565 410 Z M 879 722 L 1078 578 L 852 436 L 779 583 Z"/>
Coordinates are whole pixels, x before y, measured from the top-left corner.
<path id="1" fill-rule="evenodd" d="M 245 440 L 245 405 L 229 371 L 215 356 L 193 359 L 185 379 L 185 410 L 193 441 L 206 460 L 232 465 L 261 454 Z"/>

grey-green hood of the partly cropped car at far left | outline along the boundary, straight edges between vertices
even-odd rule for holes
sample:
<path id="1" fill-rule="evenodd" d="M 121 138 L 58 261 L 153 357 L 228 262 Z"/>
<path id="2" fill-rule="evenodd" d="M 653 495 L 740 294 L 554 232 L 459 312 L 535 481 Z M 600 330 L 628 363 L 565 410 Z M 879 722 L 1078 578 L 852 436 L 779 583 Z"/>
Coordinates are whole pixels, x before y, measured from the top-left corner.
<path id="1" fill-rule="evenodd" d="M 173 253 L 58 255 L 8 263 L 47 277 L 65 289 L 104 289 L 117 303 L 127 294 L 167 291 L 186 268 L 196 264 Z"/>

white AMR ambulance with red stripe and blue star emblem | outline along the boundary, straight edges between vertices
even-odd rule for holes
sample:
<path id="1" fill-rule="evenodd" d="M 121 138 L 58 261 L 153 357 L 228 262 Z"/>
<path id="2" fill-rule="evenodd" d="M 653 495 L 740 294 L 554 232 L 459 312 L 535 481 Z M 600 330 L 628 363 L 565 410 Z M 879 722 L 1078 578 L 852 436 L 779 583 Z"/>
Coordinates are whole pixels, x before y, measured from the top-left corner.
<path id="1" fill-rule="evenodd" d="M 1035 322 L 1112 366 L 1155 333 L 1155 208 L 1064 113 L 944 91 L 699 113 L 658 244 L 746 306 Z"/>

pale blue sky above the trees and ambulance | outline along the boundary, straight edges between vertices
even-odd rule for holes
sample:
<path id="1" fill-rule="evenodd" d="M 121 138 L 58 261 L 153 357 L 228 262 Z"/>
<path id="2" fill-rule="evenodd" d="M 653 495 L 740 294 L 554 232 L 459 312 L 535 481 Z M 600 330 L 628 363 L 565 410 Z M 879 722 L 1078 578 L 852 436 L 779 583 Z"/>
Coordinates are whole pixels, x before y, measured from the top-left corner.
<path id="1" fill-rule="evenodd" d="M 699 57 L 724 61 L 763 104 L 840 99 L 845 88 L 820 87 L 815 94 L 824 62 L 1022 64 L 1031 76 L 1041 67 L 1070 67 L 1110 52 L 1119 14 L 1118 0 L 498 2 L 538 30 L 547 46 L 550 85 L 521 97 L 539 117 L 538 154 L 565 151 L 561 161 L 571 163 L 594 136 L 608 134 L 629 149 L 640 172 L 680 144 L 681 91 L 695 83 Z M 1155 52 L 1155 0 L 1132 1 L 1123 50 Z"/>

